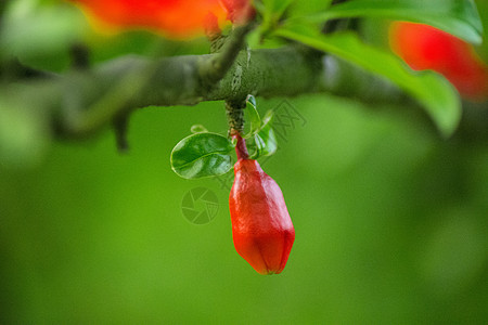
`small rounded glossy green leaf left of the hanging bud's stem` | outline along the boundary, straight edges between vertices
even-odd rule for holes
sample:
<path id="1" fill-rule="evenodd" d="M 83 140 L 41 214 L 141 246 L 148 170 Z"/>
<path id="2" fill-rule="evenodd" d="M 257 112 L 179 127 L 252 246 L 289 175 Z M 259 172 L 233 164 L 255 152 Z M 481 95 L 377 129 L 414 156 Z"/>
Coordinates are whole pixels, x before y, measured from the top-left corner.
<path id="1" fill-rule="evenodd" d="M 171 168 L 183 179 L 223 174 L 232 168 L 232 142 L 220 134 L 192 134 L 172 150 Z"/>

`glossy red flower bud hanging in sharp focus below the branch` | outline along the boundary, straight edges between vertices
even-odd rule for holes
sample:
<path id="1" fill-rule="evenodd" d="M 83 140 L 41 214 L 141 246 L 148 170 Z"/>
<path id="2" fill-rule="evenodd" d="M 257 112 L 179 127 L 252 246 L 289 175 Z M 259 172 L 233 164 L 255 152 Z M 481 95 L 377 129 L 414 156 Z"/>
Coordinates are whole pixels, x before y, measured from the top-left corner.
<path id="1" fill-rule="evenodd" d="M 288 260 L 295 230 L 280 186 L 256 160 L 239 153 L 229 207 L 235 250 L 260 274 L 281 273 Z M 244 156 L 244 157 L 243 157 Z"/>

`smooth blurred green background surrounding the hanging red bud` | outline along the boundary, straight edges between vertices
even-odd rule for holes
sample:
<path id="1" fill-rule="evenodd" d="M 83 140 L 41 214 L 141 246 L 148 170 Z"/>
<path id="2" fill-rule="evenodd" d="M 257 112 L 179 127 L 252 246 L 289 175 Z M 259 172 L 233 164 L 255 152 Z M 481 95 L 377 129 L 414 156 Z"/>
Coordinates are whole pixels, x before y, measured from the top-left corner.
<path id="1" fill-rule="evenodd" d="M 202 41 L 81 34 L 94 61 L 205 51 Z M 52 48 L 17 54 L 62 70 L 66 53 Z M 258 99 L 259 110 L 282 101 Z M 296 230 L 282 274 L 259 275 L 235 252 L 227 188 L 170 169 L 192 125 L 226 133 L 223 104 L 150 107 L 132 115 L 125 155 L 106 130 L 55 141 L 27 167 L 0 164 L 0 323 L 488 323 L 487 141 L 441 140 L 409 107 L 286 103 L 305 121 L 262 162 Z M 202 186 L 220 206 L 195 225 L 181 202 Z"/>

